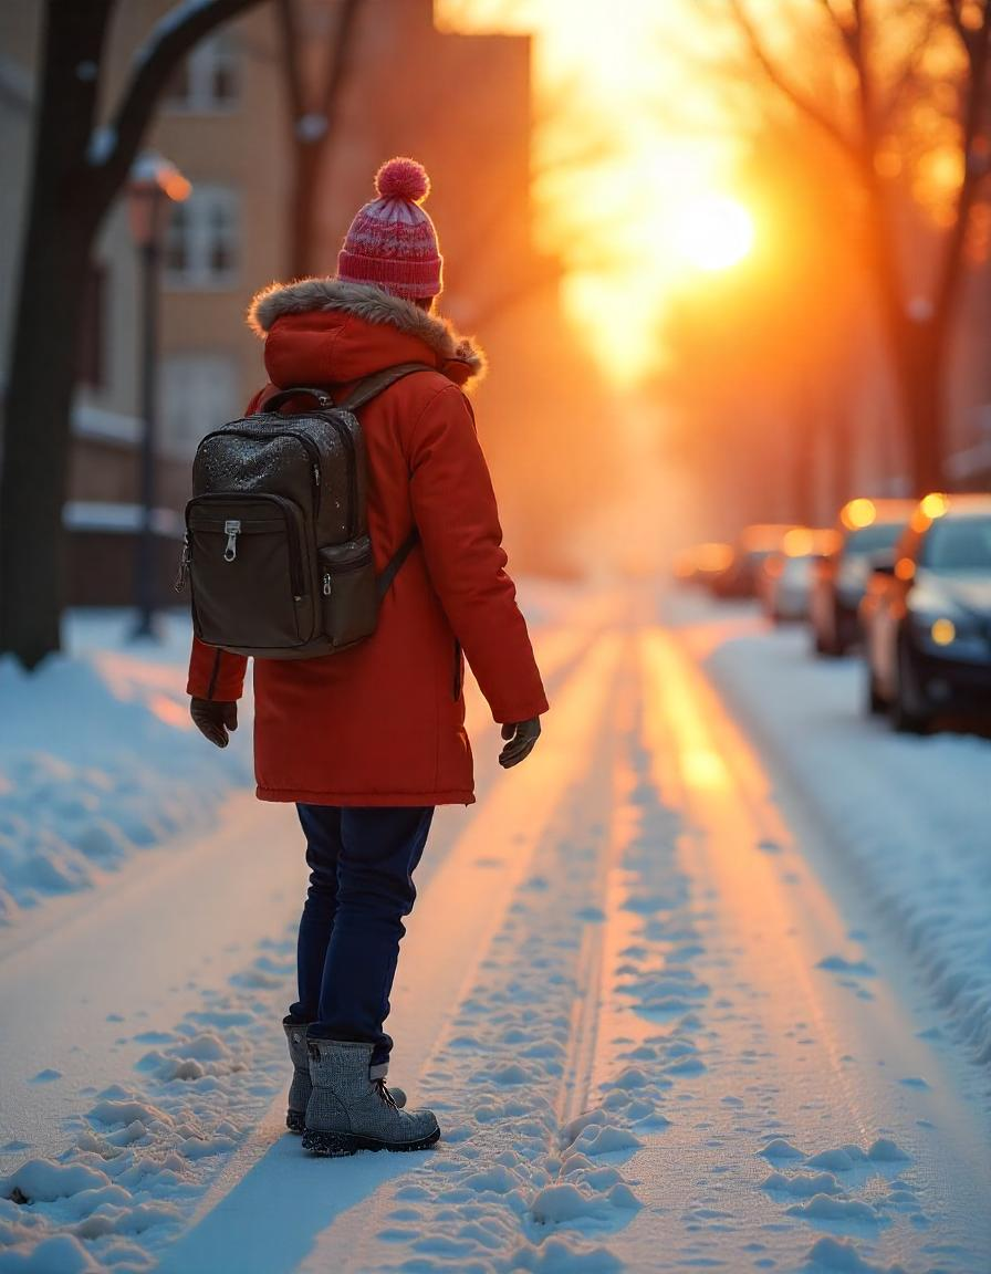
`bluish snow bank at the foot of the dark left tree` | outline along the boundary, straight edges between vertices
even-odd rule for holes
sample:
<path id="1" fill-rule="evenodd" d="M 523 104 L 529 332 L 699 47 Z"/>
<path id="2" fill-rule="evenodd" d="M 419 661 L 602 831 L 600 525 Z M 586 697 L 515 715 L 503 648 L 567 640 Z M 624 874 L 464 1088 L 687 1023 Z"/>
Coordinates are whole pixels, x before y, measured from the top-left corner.
<path id="1" fill-rule="evenodd" d="M 0 924 L 88 889 L 139 850 L 206 831 L 251 784 L 250 730 L 220 752 L 189 719 L 189 624 L 129 645 L 126 620 L 73 617 L 69 652 L 0 660 Z"/>

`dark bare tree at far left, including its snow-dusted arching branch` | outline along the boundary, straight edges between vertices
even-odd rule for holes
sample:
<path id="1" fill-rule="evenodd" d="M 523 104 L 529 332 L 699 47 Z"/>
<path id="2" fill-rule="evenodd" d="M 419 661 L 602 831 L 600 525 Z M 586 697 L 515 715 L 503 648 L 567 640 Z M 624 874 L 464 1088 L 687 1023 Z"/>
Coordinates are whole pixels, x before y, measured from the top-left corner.
<path id="1" fill-rule="evenodd" d="M 11 651 L 27 668 L 59 648 L 75 353 L 97 232 L 175 68 L 206 34 L 259 3 L 177 4 L 135 55 L 102 127 L 97 111 L 117 0 L 45 6 L 0 480 L 0 652 Z"/>

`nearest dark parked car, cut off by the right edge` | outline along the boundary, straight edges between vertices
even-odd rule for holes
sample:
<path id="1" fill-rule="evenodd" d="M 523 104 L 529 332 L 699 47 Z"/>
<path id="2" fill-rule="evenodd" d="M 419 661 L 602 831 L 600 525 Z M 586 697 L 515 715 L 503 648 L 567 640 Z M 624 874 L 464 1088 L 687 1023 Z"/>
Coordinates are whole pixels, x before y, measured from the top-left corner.
<path id="1" fill-rule="evenodd" d="M 940 712 L 991 725 L 991 494 L 927 496 L 861 604 L 866 707 L 918 731 Z"/>

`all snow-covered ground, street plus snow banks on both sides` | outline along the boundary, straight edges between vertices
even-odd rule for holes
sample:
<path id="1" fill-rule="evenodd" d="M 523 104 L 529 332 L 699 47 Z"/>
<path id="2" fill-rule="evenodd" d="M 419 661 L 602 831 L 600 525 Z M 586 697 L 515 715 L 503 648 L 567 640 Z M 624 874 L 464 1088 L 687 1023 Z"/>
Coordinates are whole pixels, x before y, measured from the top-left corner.
<path id="1" fill-rule="evenodd" d="M 893 738 L 746 606 L 524 606 L 544 735 L 503 773 L 469 698 L 394 994 L 420 1154 L 284 1131 L 302 838 L 187 729 L 182 627 L 80 629 L 51 721 L 3 683 L 0 1271 L 991 1268 L 991 741 Z"/>

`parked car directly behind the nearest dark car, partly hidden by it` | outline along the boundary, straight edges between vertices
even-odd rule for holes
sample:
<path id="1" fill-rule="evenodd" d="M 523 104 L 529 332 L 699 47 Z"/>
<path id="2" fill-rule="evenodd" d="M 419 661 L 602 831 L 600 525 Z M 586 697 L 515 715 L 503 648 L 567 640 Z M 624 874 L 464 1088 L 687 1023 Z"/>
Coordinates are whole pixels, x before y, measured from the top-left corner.
<path id="1" fill-rule="evenodd" d="M 871 557 L 890 552 L 916 507 L 912 499 L 851 499 L 839 511 L 834 548 L 813 572 L 809 618 L 816 655 L 846 655 L 860 640 L 857 612 Z"/>

